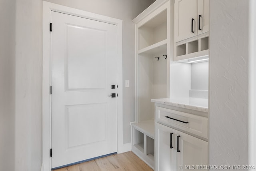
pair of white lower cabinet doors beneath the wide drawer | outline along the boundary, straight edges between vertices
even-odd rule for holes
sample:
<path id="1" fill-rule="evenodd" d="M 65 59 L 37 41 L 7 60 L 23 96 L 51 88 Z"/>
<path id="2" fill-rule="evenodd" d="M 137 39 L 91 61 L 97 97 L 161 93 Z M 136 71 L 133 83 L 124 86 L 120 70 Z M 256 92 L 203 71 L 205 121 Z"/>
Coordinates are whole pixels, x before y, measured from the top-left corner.
<path id="1" fill-rule="evenodd" d="M 202 170 L 208 165 L 208 142 L 155 123 L 155 171 Z"/>

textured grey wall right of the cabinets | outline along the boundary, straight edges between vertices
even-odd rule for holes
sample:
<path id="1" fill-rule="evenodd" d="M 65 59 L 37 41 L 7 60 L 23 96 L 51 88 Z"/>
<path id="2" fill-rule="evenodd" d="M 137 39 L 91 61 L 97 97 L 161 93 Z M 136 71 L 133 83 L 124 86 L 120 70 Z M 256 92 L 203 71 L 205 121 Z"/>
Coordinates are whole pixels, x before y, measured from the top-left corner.
<path id="1" fill-rule="evenodd" d="M 248 10 L 210 0 L 210 165 L 248 164 Z"/>

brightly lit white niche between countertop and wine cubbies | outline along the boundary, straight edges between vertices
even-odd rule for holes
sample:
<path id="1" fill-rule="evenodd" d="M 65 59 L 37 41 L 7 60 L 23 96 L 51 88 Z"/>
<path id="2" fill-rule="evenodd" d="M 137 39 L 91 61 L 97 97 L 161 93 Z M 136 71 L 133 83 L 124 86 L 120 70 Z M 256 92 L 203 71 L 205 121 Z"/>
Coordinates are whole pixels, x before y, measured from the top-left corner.
<path id="1" fill-rule="evenodd" d="M 208 67 L 208 61 L 194 64 L 172 62 L 170 96 L 174 99 L 208 99 Z"/>

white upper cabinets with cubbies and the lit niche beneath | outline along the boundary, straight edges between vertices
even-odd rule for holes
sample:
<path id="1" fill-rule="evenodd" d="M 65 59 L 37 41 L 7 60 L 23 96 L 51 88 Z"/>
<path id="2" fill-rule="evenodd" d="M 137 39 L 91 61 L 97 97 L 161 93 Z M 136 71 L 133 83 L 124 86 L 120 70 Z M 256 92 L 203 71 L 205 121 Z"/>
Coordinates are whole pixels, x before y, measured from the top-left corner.
<path id="1" fill-rule="evenodd" d="M 175 0 L 170 98 L 208 99 L 208 28 L 209 0 Z"/>

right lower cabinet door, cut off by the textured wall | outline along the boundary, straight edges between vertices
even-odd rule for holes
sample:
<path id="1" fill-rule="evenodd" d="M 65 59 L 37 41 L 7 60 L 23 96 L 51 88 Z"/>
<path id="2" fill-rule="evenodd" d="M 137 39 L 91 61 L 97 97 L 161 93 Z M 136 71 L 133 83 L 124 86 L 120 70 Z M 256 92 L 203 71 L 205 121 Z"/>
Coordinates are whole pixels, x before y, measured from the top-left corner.
<path id="1" fill-rule="evenodd" d="M 202 170 L 197 165 L 208 165 L 208 142 L 177 131 L 177 171 Z"/>

